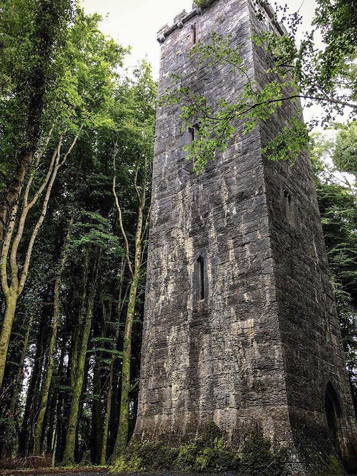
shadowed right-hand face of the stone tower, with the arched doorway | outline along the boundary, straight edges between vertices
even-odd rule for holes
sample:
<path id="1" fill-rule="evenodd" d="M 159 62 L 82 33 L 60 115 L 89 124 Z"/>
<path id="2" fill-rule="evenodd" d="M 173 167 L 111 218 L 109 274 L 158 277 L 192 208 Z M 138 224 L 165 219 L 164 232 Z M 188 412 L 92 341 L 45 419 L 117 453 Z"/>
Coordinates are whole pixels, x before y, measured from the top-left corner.
<path id="1" fill-rule="evenodd" d="M 251 18 L 253 30 L 259 31 L 253 12 Z M 270 59 L 263 48 L 254 45 L 253 49 L 255 78 L 264 85 L 275 79 L 266 73 Z M 299 99 L 287 101 L 274 117 L 262 122 L 262 147 L 296 114 L 301 114 Z M 294 441 L 310 455 L 326 446 L 330 432 L 325 392 L 331 383 L 341 405 L 342 456 L 347 467 L 355 466 L 356 417 L 310 157 L 300 154 L 294 166 L 265 160 L 264 176 Z M 291 197 L 292 223 L 286 214 L 285 192 Z"/>

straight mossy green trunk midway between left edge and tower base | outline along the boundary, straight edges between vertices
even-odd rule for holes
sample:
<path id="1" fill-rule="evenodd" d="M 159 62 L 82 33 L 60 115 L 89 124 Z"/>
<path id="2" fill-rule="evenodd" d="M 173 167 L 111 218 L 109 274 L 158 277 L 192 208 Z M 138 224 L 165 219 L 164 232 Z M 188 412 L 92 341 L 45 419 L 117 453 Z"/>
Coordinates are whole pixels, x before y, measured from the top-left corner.
<path id="1" fill-rule="evenodd" d="M 91 283 L 91 289 L 88 295 L 87 315 L 82 337 L 81 351 L 78 360 L 77 378 L 75 379 L 75 385 L 73 389 L 72 404 L 69 414 L 68 432 L 66 439 L 66 447 L 63 455 L 63 465 L 68 466 L 74 462 L 74 446 L 75 446 L 75 434 L 78 424 L 78 411 L 80 405 L 80 398 L 83 388 L 84 380 L 84 367 L 86 363 L 86 355 L 88 349 L 89 335 L 92 328 L 94 297 L 96 291 L 96 282 L 98 277 L 98 267 L 100 259 L 100 251 L 97 252 L 96 263 L 93 269 L 93 279 Z"/>

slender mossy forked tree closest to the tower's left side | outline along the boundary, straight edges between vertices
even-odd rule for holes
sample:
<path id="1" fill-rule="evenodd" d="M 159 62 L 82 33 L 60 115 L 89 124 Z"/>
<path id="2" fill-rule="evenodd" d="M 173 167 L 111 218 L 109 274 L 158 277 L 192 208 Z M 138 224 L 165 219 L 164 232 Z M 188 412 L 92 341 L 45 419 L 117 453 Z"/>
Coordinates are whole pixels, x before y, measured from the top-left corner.
<path id="1" fill-rule="evenodd" d="M 129 154 L 132 158 L 131 160 L 134 168 L 132 187 L 134 188 L 137 197 L 137 224 L 133 255 L 130 253 L 129 240 L 127 239 L 127 234 L 125 232 L 122 210 L 116 190 L 118 139 L 115 141 L 113 151 L 113 195 L 115 197 L 115 205 L 118 211 L 120 231 L 124 241 L 126 265 L 130 271 L 132 281 L 129 290 L 129 303 L 127 304 L 126 310 L 123 339 L 119 427 L 112 459 L 120 456 L 127 445 L 129 437 L 132 332 L 135 304 L 146 245 L 145 240 L 149 226 L 150 209 L 147 204 L 147 192 L 151 183 L 151 165 L 152 157 L 154 155 L 154 101 L 156 88 L 154 82 L 151 80 L 150 68 L 146 63 L 142 63 L 141 67 L 135 71 L 135 76 L 137 77 L 138 82 L 135 87 L 131 89 L 132 97 L 129 96 L 134 114 L 131 123 L 126 127 L 125 131 L 129 141 L 119 155 L 119 157 L 123 157 L 125 153 Z M 120 133 L 121 130 L 119 128 L 119 134 Z"/>

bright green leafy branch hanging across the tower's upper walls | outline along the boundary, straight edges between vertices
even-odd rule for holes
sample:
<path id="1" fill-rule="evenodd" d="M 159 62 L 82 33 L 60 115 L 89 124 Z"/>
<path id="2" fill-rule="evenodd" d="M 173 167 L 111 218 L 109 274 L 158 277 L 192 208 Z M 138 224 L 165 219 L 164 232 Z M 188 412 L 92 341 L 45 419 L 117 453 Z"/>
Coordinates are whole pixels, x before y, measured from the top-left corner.
<path id="1" fill-rule="evenodd" d="M 258 41 L 258 40 L 257 40 Z M 259 39 L 259 41 L 261 41 Z M 219 37 L 211 34 L 209 43 L 197 43 L 190 52 L 197 57 L 201 65 L 230 65 L 237 73 L 237 81 L 241 77 L 245 86 L 239 91 L 235 103 L 220 99 L 210 104 L 207 98 L 195 91 L 185 78 L 172 74 L 173 88 L 168 88 L 162 95 L 161 106 L 181 106 L 180 117 L 183 119 L 183 130 L 198 126 L 198 137 L 185 147 L 187 160 L 193 160 L 194 170 L 201 172 L 209 161 L 216 157 L 216 152 L 223 153 L 228 141 L 233 136 L 237 120 L 244 124 L 243 134 L 257 128 L 261 121 L 267 121 L 282 107 L 287 97 L 298 96 L 294 82 L 287 77 L 285 81 L 273 80 L 263 88 L 250 80 L 240 48 L 232 46 L 232 38 Z M 269 159 L 290 160 L 294 162 L 302 149 L 309 145 L 309 132 L 301 115 L 295 115 L 283 131 L 263 150 Z"/>

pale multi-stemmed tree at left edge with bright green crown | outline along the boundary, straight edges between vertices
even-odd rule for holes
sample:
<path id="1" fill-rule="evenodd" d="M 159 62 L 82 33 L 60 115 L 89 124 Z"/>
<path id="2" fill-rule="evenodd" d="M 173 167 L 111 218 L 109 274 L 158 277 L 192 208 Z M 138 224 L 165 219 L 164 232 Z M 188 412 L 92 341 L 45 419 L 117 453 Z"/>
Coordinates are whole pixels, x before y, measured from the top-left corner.
<path id="1" fill-rule="evenodd" d="M 52 94 L 49 94 L 53 100 L 50 111 L 53 123 L 44 136 L 43 146 L 37 154 L 27 186 L 20 197 L 22 209 L 18 214 L 19 207 L 15 205 L 12 208 L 4 237 L 0 277 L 6 310 L 0 335 L 0 388 L 17 300 L 27 279 L 33 246 L 47 212 L 57 173 L 65 165 L 83 129 L 110 121 L 107 110 L 113 92 L 113 79 L 116 78 L 115 68 L 121 64 L 125 50 L 100 33 L 99 20 L 98 15 L 86 16 L 82 10 L 77 11 L 62 55 L 58 58 L 63 78 Z M 52 156 L 49 156 L 47 172 L 44 172 L 44 177 L 41 178 L 41 160 L 46 157 L 47 147 L 55 134 L 58 138 L 53 146 Z M 65 151 L 62 152 L 64 147 Z M 31 194 L 33 196 L 30 198 Z M 19 273 L 19 244 L 23 238 L 24 227 L 28 223 L 29 212 L 42 194 L 42 208 Z"/>

